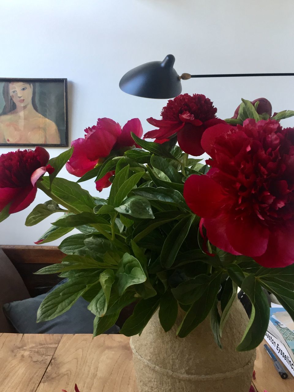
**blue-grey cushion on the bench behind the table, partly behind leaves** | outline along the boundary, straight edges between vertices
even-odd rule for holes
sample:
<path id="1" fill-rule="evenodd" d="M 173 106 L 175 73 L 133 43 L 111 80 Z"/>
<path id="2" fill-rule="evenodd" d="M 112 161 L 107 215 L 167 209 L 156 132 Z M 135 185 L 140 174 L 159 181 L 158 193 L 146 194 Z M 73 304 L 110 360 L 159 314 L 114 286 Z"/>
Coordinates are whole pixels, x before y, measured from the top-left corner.
<path id="1" fill-rule="evenodd" d="M 55 287 L 65 283 L 64 279 Z M 87 310 L 89 302 L 80 297 L 76 303 L 64 314 L 57 316 L 53 320 L 41 321 L 36 323 L 37 311 L 47 296 L 41 294 L 34 298 L 24 299 L 23 301 L 14 301 L 6 303 L 3 306 L 6 317 L 11 321 L 17 332 L 22 334 L 92 334 L 94 314 Z M 106 334 L 117 334 L 120 328 L 114 325 Z"/>

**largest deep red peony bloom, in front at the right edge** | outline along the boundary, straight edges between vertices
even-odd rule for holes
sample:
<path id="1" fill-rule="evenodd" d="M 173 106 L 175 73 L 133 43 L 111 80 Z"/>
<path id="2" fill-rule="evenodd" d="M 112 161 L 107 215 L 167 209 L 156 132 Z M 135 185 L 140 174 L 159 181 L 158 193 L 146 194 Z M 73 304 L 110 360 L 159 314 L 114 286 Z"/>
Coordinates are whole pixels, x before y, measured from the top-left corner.
<path id="1" fill-rule="evenodd" d="M 275 120 L 207 129 L 205 176 L 190 176 L 184 197 L 209 241 L 265 267 L 294 263 L 294 129 Z"/>

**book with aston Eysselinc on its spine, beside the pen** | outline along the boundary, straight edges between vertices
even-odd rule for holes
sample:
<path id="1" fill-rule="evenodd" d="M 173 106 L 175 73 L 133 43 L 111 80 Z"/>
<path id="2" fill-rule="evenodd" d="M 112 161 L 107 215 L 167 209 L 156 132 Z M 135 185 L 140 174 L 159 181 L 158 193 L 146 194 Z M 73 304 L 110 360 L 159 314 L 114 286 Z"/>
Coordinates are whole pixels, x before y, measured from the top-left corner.
<path id="1" fill-rule="evenodd" d="M 294 322 L 283 307 L 270 308 L 265 340 L 294 376 Z"/>

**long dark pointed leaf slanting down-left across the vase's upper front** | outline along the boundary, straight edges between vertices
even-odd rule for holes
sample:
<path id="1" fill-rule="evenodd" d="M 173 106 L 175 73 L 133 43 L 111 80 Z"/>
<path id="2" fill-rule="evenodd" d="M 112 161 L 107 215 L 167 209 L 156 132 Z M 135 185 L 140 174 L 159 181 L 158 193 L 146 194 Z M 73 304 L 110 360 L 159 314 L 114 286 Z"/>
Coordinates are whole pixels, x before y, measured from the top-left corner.
<path id="1" fill-rule="evenodd" d="M 191 305 L 177 330 L 177 335 L 180 338 L 185 338 L 207 318 L 220 290 L 220 282 L 221 273 L 215 279 L 211 280 L 211 283 L 207 285 L 201 297 Z"/>

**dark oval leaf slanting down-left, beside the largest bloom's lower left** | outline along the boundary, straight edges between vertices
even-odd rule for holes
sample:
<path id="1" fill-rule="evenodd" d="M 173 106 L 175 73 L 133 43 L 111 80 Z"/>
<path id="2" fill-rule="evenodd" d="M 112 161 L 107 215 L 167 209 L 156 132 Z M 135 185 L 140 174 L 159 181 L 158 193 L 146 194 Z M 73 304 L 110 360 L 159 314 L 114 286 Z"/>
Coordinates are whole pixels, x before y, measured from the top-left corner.
<path id="1" fill-rule="evenodd" d="M 189 215 L 182 218 L 169 232 L 164 241 L 162 252 L 160 255 L 160 262 L 166 268 L 170 268 L 174 263 L 176 255 L 180 250 L 182 243 L 187 237 L 190 227 L 195 219 L 195 215 Z"/>

